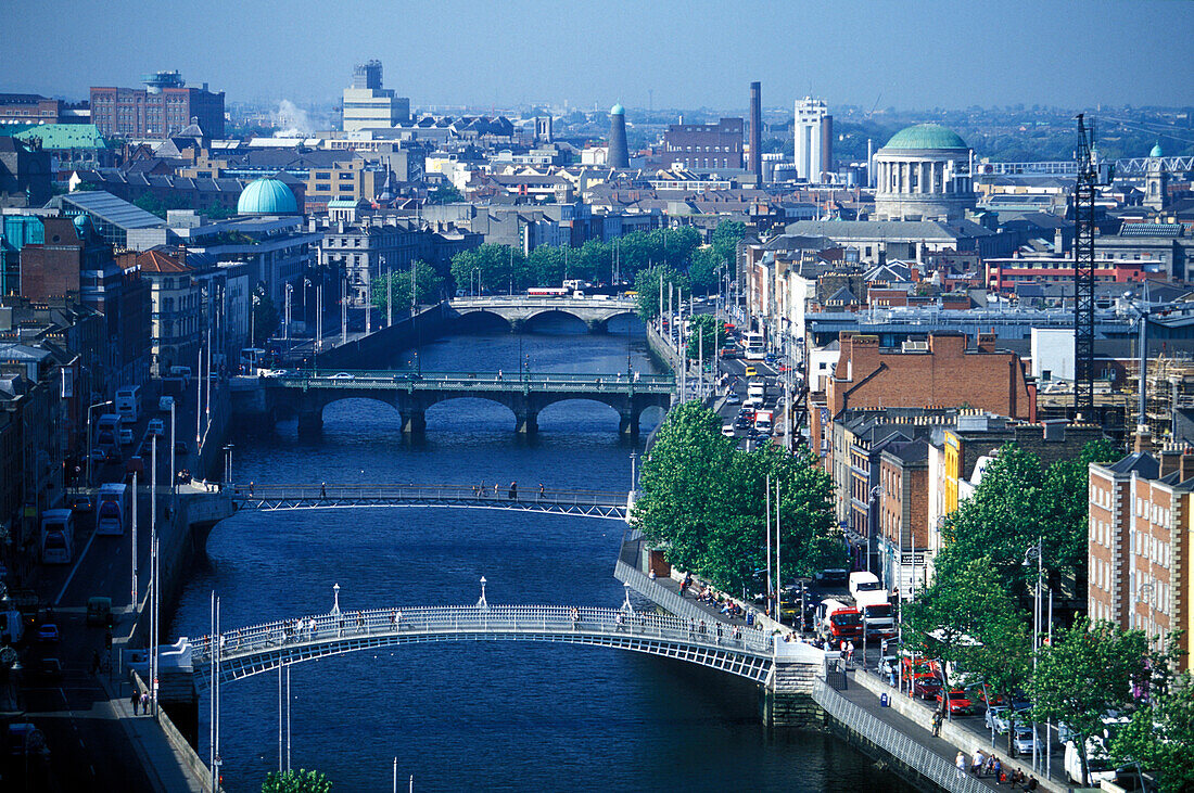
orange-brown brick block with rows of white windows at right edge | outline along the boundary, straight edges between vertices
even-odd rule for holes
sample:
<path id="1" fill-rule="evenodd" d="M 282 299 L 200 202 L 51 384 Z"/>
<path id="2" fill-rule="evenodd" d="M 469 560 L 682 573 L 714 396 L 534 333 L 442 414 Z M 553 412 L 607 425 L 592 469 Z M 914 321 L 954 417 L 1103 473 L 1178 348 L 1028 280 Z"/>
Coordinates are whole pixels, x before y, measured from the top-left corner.
<path id="1" fill-rule="evenodd" d="M 1138 451 L 1114 465 L 1090 465 L 1088 613 L 1149 636 L 1183 631 L 1187 669 L 1194 649 L 1192 508 L 1189 450 Z"/>

